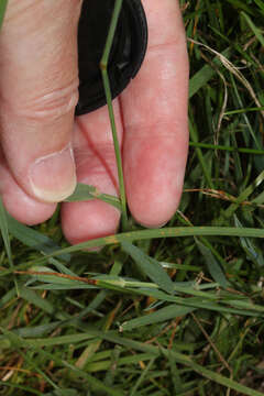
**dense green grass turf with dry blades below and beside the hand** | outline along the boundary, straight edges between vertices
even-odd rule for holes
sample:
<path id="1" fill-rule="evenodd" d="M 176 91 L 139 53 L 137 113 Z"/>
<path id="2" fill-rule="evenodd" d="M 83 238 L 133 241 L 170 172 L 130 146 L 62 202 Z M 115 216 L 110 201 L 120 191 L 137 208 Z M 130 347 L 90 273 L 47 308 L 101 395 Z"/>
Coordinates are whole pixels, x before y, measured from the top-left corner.
<path id="1" fill-rule="evenodd" d="M 264 395 L 264 3 L 182 8 L 180 207 L 168 228 L 130 219 L 133 232 L 74 248 L 58 213 L 29 229 L 1 208 L 0 395 Z"/>

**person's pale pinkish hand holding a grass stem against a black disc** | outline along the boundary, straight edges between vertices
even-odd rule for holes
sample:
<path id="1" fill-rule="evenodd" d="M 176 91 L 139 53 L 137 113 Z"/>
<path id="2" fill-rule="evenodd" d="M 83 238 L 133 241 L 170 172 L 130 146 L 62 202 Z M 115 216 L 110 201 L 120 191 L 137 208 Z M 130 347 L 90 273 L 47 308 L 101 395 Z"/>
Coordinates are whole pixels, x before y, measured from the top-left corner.
<path id="1" fill-rule="evenodd" d="M 182 195 L 188 57 L 177 0 L 142 3 L 146 57 L 113 103 L 129 208 L 154 228 L 172 218 Z M 80 7 L 80 0 L 9 0 L 0 34 L 0 193 L 26 224 L 47 220 L 76 180 L 118 195 L 107 108 L 74 117 Z M 112 234 L 119 221 L 117 209 L 99 200 L 62 205 L 69 243 Z"/>

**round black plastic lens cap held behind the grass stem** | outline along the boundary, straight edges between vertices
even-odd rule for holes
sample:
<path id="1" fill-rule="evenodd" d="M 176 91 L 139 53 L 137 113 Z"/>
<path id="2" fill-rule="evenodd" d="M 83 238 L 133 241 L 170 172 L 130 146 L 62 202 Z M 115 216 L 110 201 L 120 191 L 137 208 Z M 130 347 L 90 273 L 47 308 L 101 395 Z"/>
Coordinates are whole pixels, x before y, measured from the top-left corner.
<path id="1" fill-rule="evenodd" d="M 84 0 L 78 26 L 79 101 L 76 116 L 106 105 L 100 61 L 116 0 Z M 112 99 L 135 77 L 145 56 L 147 24 L 141 0 L 123 0 L 108 75 Z"/>

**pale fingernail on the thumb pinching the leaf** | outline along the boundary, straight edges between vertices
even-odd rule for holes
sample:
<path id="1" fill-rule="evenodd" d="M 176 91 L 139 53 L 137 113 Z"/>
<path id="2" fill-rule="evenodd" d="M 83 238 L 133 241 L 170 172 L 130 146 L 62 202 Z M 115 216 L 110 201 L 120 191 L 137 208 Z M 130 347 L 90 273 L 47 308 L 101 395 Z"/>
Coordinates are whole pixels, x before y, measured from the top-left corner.
<path id="1" fill-rule="evenodd" d="M 36 198 L 46 202 L 64 200 L 76 187 L 73 148 L 67 146 L 37 158 L 30 167 L 29 177 Z"/>

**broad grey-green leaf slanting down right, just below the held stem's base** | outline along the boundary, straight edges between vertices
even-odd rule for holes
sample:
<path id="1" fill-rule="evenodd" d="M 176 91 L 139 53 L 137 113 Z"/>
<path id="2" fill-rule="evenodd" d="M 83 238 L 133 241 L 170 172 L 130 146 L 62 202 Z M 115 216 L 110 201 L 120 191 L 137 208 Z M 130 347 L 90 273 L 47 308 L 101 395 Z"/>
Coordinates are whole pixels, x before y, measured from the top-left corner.
<path id="1" fill-rule="evenodd" d="M 174 284 L 172 279 L 158 261 L 150 257 L 130 242 L 124 241 L 121 245 L 122 249 L 135 261 L 145 275 L 147 275 L 165 292 L 170 294 L 174 292 Z"/>

